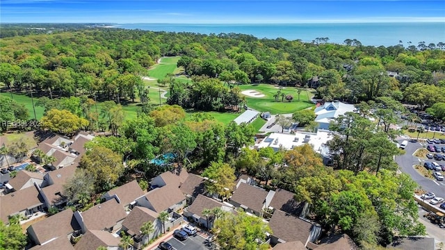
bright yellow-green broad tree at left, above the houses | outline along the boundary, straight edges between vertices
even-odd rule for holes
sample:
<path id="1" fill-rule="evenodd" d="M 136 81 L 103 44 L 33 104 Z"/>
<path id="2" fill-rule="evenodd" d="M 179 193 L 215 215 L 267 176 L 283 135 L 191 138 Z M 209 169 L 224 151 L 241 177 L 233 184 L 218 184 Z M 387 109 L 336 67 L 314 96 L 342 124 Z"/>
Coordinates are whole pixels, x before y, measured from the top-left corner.
<path id="1" fill-rule="evenodd" d="M 40 121 L 42 122 L 43 128 L 48 128 L 50 131 L 63 133 L 65 135 L 73 135 L 81 128 L 88 126 L 86 119 L 73 115 L 68 110 L 51 109 Z"/>

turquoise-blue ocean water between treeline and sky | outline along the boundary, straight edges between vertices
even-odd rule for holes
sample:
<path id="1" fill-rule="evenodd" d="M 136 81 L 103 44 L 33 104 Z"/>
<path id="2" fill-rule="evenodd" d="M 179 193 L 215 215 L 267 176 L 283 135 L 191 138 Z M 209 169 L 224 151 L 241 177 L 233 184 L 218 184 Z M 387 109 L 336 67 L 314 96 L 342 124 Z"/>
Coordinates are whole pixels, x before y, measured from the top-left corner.
<path id="1" fill-rule="evenodd" d="M 193 32 L 200 34 L 243 33 L 257 38 L 284 38 L 312 42 L 329 38 L 343 44 L 357 39 L 364 45 L 385 47 L 403 42 L 405 47 L 425 42 L 445 42 L 445 22 L 431 23 L 366 23 L 366 24 L 116 24 L 113 27 L 145 31 Z M 409 44 L 408 42 L 411 42 Z"/>

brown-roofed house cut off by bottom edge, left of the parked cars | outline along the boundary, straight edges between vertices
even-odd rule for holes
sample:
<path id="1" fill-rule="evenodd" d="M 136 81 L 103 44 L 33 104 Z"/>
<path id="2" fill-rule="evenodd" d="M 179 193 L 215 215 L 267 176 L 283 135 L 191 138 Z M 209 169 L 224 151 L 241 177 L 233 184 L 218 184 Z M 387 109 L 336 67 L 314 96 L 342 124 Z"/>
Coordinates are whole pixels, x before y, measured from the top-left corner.
<path id="1" fill-rule="evenodd" d="M 120 237 L 114 237 L 111 233 L 101 230 L 88 230 L 81 240 L 74 245 L 76 250 L 92 250 L 99 247 L 106 249 L 120 249 Z"/>

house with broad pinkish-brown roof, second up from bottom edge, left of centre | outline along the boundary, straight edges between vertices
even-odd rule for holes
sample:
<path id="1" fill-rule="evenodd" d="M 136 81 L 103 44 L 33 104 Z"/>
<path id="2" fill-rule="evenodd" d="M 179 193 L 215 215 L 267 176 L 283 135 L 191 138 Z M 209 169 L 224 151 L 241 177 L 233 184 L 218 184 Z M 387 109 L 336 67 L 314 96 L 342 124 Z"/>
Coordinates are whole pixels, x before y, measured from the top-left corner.
<path id="1" fill-rule="evenodd" d="M 85 233 L 87 229 L 113 233 L 122 228 L 122 222 L 127 217 L 127 213 L 116 199 L 110 199 L 86 211 L 76 211 L 74 217 L 81 226 L 82 233 Z"/>

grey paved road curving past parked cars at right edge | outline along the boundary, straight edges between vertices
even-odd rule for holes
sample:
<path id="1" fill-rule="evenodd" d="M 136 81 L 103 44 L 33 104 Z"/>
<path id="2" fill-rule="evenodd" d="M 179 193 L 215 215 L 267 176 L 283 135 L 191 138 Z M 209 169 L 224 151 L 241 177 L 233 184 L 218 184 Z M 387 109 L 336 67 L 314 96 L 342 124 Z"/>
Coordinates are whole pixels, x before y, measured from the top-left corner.
<path id="1" fill-rule="evenodd" d="M 401 143 L 403 140 L 398 140 Z M 420 164 L 423 165 L 424 161 L 419 162 L 419 158 L 412 156 L 416 149 L 423 147 L 419 142 L 409 142 L 405 148 L 406 153 L 403 156 L 396 156 L 395 160 L 402 172 L 405 172 L 411 176 L 413 181 L 415 181 L 423 190 L 434 192 L 438 197 L 445 197 L 445 181 L 435 181 L 430 178 L 423 177 L 421 174 L 416 172 L 416 169 L 412 165 Z"/>

